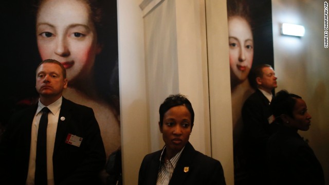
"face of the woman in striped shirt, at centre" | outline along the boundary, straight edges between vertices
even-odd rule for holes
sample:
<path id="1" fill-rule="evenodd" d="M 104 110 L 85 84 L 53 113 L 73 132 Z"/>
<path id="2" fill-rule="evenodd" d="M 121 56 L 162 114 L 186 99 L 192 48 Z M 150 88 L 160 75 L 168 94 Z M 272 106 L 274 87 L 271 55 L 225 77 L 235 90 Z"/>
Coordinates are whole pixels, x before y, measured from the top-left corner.
<path id="1" fill-rule="evenodd" d="M 178 153 L 189 141 L 191 129 L 191 113 L 184 105 L 170 108 L 163 116 L 160 127 L 166 150 L 172 154 Z"/>

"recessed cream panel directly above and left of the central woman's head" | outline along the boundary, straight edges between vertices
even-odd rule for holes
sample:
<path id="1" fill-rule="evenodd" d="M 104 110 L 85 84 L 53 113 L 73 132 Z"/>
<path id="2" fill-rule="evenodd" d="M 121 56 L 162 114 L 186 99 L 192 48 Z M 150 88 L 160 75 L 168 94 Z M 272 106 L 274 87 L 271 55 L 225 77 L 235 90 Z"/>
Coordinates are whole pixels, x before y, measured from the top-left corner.
<path id="1" fill-rule="evenodd" d="M 175 1 L 164 1 L 144 17 L 147 69 L 148 125 L 151 148 L 163 146 L 159 132 L 159 106 L 168 95 L 179 93 Z"/>

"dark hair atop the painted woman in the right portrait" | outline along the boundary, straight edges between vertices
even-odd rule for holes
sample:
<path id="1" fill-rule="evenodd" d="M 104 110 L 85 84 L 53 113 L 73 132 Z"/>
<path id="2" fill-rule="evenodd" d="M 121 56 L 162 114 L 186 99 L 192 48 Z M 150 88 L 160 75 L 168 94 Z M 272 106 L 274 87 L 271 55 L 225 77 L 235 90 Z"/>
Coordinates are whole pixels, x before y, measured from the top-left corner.
<path id="1" fill-rule="evenodd" d="M 228 0 L 227 1 L 227 18 L 232 16 L 240 16 L 244 18 L 252 28 L 249 6 L 244 0 Z"/>

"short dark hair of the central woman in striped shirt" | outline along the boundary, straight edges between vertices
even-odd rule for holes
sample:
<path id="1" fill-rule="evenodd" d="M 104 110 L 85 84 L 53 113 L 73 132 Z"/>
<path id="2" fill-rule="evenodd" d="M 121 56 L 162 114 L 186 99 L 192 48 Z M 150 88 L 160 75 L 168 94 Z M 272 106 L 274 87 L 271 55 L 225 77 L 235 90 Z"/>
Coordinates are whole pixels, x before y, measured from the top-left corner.
<path id="1" fill-rule="evenodd" d="M 194 110 L 192 108 L 191 102 L 186 98 L 184 95 L 170 95 L 163 101 L 163 103 L 160 105 L 159 108 L 159 114 L 160 114 L 160 127 L 163 125 L 163 117 L 165 116 L 166 112 L 175 106 L 183 105 L 185 106 L 190 114 L 191 114 L 191 130 L 193 128 L 194 124 Z"/>

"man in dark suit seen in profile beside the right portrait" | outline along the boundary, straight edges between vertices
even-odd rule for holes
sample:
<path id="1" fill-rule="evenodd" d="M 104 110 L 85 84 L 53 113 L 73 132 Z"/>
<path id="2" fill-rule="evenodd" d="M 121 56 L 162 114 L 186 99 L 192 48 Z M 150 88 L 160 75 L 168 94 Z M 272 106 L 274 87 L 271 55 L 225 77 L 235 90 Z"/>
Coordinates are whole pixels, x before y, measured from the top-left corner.
<path id="1" fill-rule="evenodd" d="M 254 184 L 267 184 L 266 143 L 277 128 L 270 110 L 272 90 L 277 88 L 277 77 L 270 65 L 254 68 L 255 92 L 242 107 L 243 142 L 249 180 Z"/>

